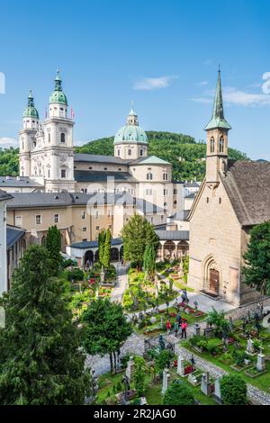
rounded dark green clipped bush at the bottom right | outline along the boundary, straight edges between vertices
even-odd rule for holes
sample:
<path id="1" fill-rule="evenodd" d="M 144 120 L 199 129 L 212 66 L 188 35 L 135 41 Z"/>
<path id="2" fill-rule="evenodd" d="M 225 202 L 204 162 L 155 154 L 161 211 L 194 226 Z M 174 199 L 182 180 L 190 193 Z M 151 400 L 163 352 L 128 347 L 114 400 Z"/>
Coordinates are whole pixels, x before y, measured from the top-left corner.
<path id="1" fill-rule="evenodd" d="M 246 405 L 247 383 L 238 374 L 225 374 L 220 379 L 220 394 L 224 405 Z"/>

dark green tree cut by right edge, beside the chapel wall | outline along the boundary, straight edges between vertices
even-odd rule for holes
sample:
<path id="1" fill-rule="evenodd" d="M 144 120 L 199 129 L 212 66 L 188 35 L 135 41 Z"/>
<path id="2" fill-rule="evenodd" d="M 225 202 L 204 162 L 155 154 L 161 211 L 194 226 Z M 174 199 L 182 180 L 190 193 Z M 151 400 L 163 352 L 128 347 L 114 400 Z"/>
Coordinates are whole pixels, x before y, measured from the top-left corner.
<path id="1" fill-rule="evenodd" d="M 270 221 L 250 230 L 243 268 L 245 284 L 264 295 L 270 294 Z"/>

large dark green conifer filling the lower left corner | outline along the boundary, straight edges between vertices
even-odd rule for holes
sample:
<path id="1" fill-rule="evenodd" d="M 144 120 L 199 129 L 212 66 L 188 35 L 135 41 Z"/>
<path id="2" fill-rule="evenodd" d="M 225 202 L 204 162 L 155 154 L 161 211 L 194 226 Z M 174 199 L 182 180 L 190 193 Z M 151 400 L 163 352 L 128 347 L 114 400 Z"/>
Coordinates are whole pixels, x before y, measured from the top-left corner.
<path id="1" fill-rule="evenodd" d="M 84 404 L 85 372 L 79 329 L 72 322 L 63 284 L 50 276 L 48 250 L 31 246 L 4 296 L 0 329 L 0 404 Z"/>

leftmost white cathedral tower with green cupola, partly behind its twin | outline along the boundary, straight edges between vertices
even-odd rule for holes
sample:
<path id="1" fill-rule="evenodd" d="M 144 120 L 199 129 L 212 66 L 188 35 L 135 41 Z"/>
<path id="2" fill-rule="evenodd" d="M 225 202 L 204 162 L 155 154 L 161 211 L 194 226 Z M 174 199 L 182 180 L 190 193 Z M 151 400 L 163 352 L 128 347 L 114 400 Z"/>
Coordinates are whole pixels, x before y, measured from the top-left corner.
<path id="1" fill-rule="evenodd" d="M 28 104 L 23 112 L 23 130 L 19 133 L 20 176 L 31 176 L 31 149 L 35 146 L 36 133 L 39 129 L 39 112 L 35 108 L 31 90 Z"/>

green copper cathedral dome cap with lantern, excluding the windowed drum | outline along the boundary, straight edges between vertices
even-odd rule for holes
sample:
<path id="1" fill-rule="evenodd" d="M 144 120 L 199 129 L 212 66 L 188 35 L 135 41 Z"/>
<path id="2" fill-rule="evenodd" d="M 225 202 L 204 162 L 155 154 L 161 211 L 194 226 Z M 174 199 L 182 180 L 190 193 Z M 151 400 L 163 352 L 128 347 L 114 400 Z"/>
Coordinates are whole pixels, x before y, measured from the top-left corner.
<path id="1" fill-rule="evenodd" d="M 139 126 L 138 114 L 133 109 L 133 104 L 128 115 L 128 121 L 125 126 L 123 126 L 114 137 L 114 144 L 121 144 L 122 142 L 133 142 L 136 144 L 147 144 L 148 137 Z"/>

